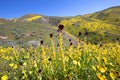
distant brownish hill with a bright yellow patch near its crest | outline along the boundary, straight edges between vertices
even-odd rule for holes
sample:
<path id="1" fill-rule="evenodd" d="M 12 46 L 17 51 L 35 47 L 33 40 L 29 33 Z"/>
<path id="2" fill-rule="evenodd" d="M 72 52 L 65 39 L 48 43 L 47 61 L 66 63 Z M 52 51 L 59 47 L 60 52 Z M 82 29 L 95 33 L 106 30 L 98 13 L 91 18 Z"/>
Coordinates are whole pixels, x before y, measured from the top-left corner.
<path id="1" fill-rule="evenodd" d="M 57 26 L 61 20 L 69 17 L 45 16 L 39 14 L 27 14 L 20 17 L 17 21 L 31 21 L 40 24 L 51 24 Z"/>

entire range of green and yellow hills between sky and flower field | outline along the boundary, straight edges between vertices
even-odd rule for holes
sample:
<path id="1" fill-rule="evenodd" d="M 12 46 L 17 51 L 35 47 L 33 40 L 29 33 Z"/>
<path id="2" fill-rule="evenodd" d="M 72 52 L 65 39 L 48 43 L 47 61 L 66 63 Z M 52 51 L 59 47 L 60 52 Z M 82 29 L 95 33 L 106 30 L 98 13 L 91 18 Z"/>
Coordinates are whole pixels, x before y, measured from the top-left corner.
<path id="1" fill-rule="evenodd" d="M 29 43 L 36 45 L 42 39 L 49 45 L 50 33 L 56 36 L 55 41 L 57 41 L 57 26 L 60 24 L 65 27 L 64 41 L 65 43 L 67 41 L 67 45 L 69 39 L 73 39 L 73 43 L 76 44 L 75 38 L 94 44 L 120 42 L 120 26 L 116 24 L 119 23 L 119 9 L 120 7 L 112 7 L 84 16 L 58 17 L 27 14 L 10 20 L 1 18 L 0 45 L 27 45 Z M 102 13 L 116 16 L 109 19 L 109 16 L 102 16 Z M 98 15 L 101 17 L 98 18 Z M 102 17 L 106 20 L 101 19 Z M 116 19 L 118 22 L 115 22 Z"/>

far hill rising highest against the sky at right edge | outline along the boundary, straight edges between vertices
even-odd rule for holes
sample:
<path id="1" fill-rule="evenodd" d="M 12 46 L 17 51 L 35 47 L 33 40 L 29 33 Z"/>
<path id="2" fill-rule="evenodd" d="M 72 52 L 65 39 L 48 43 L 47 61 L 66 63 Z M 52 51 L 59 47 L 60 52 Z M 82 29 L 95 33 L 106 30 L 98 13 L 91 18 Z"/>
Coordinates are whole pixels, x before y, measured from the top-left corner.
<path id="1" fill-rule="evenodd" d="M 111 7 L 85 16 L 120 25 L 120 6 Z"/>

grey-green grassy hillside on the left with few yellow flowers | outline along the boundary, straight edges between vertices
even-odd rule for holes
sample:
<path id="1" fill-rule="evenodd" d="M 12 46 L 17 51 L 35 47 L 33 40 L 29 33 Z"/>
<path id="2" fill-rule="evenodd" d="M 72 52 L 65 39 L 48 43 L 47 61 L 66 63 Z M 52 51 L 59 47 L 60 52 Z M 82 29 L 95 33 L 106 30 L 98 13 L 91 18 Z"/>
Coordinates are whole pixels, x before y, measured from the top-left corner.
<path id="1" fill-rule="evenodd" d="M 49 34 L 53 34 L 55 42 L 57 43 L 59 37 L 57 28 L 49 24 L 39 24 L 29 21 L 9 21 L 0 24 L 0 46 L 11 45 L 39 45 L 43 40 L 44 44 L 50 45 Z M 69 45 L 69 34 L 65 32 L 64 42 Z"/>

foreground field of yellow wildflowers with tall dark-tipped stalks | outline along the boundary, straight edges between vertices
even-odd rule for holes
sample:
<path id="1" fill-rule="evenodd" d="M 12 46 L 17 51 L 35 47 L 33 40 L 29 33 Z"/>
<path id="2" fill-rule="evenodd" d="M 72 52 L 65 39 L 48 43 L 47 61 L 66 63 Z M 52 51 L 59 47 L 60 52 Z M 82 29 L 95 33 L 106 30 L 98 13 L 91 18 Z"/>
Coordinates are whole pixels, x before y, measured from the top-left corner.
<path id="1" fill-rule="evenodd" d="M 37 47 L 0 47 L 1 80 L 120 79 L 118 42 L 94 45 L 78 40 L 77 46 L 70 41 L 66 47 L 60 32 L 55 46 L 53 36 L 50 34 L 51 47 L 44 46 L 44 41 Z"/>

